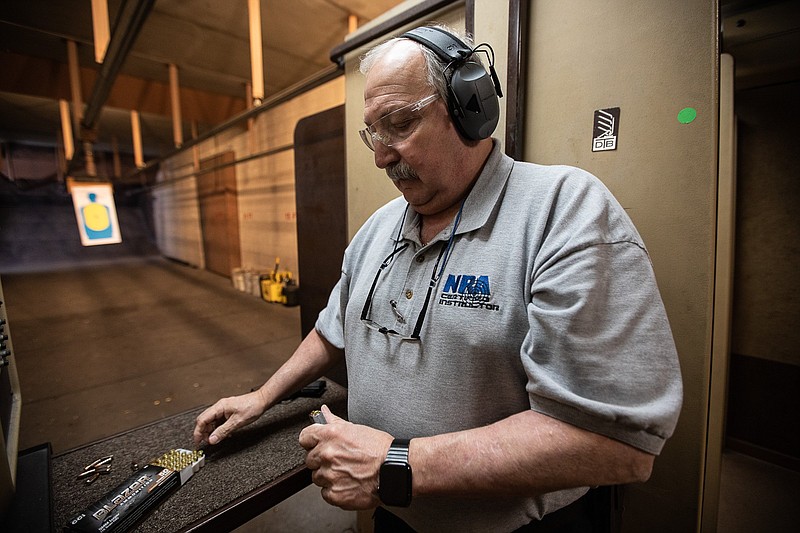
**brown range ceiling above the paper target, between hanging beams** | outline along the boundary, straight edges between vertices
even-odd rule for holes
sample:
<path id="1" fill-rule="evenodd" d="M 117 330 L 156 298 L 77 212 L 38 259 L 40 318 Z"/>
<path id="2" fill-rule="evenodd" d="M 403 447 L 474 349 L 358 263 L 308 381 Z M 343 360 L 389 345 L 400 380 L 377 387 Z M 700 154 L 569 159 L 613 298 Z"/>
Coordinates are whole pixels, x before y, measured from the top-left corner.
<path id="1" fill-rule="evenodd" d="M 358 24 L 401 0 L 261 0 L 265 98 L 330 68 L 330 50 Z M 130 4 L 146 4 L 139 0 Z M 125 11 L 108 0 L 109 24 Z M 177 67 L 184 138 L 246 109 L 251 80 L 247 0 L 157 0 L 147 10 L 97 124 L 97 142 L 132 151 L 130 110 L 141 114 L 145 155 L 174 148 L 169 64 Z M 112 35 L 113 39 L 113 35 Z M 58 99 L 71 101 L 68 41 L 77 45 L 84 103 L 101 65 L 94 60 L 90 0 L 0 2 L 0 141 L 55 145 Z M 76 134 L 77 135 L 77 134 Z"/>

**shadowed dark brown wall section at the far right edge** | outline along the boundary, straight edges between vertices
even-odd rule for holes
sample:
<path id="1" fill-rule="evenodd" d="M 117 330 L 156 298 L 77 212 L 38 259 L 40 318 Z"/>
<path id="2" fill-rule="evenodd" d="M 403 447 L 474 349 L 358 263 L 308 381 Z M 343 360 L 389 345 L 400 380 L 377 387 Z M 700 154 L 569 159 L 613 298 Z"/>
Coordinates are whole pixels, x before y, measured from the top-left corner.
<path id="1" fill-rule="evenodd" d="M 736 95 L 739 117 L 732 351 L 800 365 L 800 83 Z"/>

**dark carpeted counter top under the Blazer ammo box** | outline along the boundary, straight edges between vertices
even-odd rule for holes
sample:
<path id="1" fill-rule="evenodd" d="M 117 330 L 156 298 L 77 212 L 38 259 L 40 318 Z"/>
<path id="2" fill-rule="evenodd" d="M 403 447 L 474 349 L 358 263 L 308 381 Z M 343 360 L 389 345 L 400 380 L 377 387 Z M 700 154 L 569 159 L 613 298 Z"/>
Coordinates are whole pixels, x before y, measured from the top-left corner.
<path id="1" fill-rule="evenodd" d="M 222 517 L 211 526 L 215 531 L 220 531 L 221 523 L 235 523 L 236 527 L 308 484 L 310 476 L 303 467 L 305 450 L 297 438 L 310 423 L 308 413 L 323 403 L 337 414 L 345 413 L 345 389 L 328 380 L 321 398 L 278 404 L 222 443 L 206 447 L 205 466 L 149 511 L 133 531 L 200 531 L 209 528 L 209 523 L 204 524 L 209 517 Z M 197 408 L 54 456 L 56 530 L 61 531 L 71 518 L 130 477 L 131 463 L 143 466 L 173 448 L 195 449 L 192 430 L 202 410 Z M 114 456 L 109 474 L 92 484 L 76 479 L 86 465 L 107 455 Z M 227 519 L 223 516 L 226 514 L 230 515 Z"/>

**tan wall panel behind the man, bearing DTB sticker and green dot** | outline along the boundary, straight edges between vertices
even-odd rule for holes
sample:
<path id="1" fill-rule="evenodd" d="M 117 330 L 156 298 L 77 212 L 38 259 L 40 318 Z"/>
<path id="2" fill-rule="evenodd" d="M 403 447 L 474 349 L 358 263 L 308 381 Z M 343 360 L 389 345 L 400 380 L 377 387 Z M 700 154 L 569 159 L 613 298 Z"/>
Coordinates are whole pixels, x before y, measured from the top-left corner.
<path id="1" fill-rule="evenodd" d="M 685 399 L 629 531 L 692 531 L 699 513 L 711 350 L 718 117 L 716 3 L 531 3 L 525 158 L 600 177 L 650 250 Z M 620 107 L 618 149 L 591 151 L 596 109 Z M 680 124 L 684 107 L 697 119 Z"/>

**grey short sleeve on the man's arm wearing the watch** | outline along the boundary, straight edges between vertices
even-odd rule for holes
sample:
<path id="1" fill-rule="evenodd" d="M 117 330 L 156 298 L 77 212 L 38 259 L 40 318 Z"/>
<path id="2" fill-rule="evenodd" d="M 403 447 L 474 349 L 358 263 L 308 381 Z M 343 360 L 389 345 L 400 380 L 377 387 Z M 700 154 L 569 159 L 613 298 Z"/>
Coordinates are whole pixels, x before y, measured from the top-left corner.
<path id="1" fill-rule="evenodd" d="M 570 251 L 533 278 L 528 317 L 531 407 L 659 453 L 682 384 L 646 250 L 623 241 Z"/>

